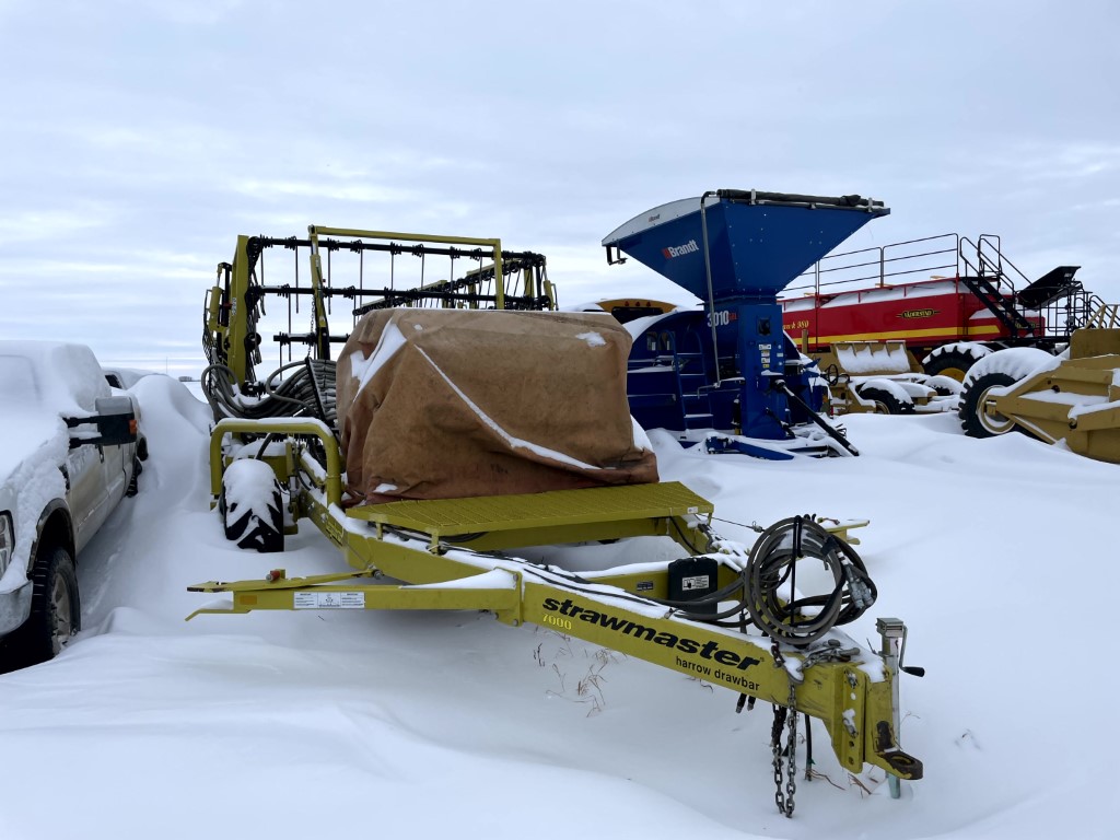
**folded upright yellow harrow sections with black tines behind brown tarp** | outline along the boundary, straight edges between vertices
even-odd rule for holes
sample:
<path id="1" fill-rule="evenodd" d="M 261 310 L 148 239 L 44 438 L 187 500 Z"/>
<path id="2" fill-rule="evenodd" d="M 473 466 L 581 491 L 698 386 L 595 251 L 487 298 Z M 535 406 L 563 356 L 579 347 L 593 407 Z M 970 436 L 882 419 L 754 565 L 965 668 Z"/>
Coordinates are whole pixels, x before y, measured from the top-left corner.
<path id="1" fill-rule="evenodd" d="M 274 253 L 279 252 L 279 253 Z M 269 270 L 265 272 L 265 256 Z M 457 265 L 469 268 L 458 273 Z M 300 281 L 300 264 L 306 273 Z M 203 311 L 209 366 L 202 385 L 215 418 L 311 416 L 335 426 L 332 346 L 349 333 L 333 330 L 337 301 L 353 326 L 367 311 L 394 307 L 556 309 L 545 259 L 504 251 L 497 239 L 363 231 L 310 225 L 306 237 L 237 237 L 232 262 L 217 267 Z M 286 318 L 267 317 L 269 302 Z M 307 332 L 293 329 L 304 301 Z M 277 368 L 259 377 L 265 326 L 276 330 Z M 292 358 L 293 345 L 308 348 Z M 287 349 L 287 363 L 284 351 Z"/>

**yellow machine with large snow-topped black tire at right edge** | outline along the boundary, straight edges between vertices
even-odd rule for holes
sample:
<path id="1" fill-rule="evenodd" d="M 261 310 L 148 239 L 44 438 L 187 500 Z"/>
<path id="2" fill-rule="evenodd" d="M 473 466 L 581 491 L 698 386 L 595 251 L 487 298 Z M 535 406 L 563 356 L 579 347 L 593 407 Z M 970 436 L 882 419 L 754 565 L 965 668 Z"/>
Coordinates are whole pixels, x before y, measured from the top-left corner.
<path id="1" fill-rule="evenodd" d="M 1015 347 L 981 358 L 964 377 L 960 418 L 974 438 L 1016 430 L 1120 464 L 1117 307 L 1101 308 L 1058 356 Z"/>

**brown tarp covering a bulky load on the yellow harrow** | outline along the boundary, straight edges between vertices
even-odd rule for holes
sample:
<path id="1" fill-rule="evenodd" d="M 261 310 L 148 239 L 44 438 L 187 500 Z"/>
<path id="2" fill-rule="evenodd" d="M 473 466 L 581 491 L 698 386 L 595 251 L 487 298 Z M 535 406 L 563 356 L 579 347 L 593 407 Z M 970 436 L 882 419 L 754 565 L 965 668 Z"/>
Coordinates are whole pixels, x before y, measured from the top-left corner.
<path id="1" fill-rule="evenodd" d="M 631 337 L 608 315 L 367 314 L 338 357 L 351 495 L 538 493 L 657 480 L 626 403 Z"/>

